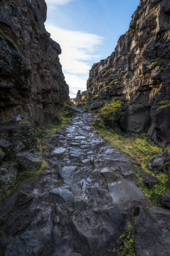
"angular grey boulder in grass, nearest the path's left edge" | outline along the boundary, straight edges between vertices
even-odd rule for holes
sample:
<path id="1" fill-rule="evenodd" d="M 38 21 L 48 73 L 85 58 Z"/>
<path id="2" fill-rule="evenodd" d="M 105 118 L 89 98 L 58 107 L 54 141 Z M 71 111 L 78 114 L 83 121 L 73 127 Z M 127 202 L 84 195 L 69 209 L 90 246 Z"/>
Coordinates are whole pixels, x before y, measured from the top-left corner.
<path id="1" fill-rule="evenodd" d="M 37 170 L 41 166 L 42 156 L 35 149 L 21 151 L 16 157 L 21 169 Z"/>

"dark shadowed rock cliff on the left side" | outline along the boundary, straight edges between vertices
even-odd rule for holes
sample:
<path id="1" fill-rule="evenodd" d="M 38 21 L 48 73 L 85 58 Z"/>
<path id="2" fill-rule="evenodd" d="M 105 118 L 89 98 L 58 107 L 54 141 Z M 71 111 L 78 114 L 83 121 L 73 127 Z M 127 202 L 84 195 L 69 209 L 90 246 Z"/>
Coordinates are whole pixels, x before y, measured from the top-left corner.
<path id="1" fill-rule="evenodd" d="M 46 13 L 45 0 L 0 1 L 0 121 L 21 114 L 43 128 L 69 99 Z"/>

